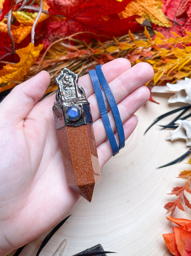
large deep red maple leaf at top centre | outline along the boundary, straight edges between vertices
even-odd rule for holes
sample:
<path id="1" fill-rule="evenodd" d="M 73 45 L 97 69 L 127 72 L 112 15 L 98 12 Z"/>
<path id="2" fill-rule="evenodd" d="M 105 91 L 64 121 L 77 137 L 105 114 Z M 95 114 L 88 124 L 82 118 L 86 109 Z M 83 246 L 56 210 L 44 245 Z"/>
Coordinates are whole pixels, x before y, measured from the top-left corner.
<path id="1" fill-rule="evenodd" d="M 130 0 L 122 2 L 116 0 L 105 0 L 104 2 L 101 0 L 48 0 L 49 13 L 63 15 L 66 17 L 66 21 L 52 22 L 48 25 L 48 35 L 43 40 L 45 48 L 53 41 L 76 32 L 89 32 L 78 35 L 77 39 L 88 40 L 90 37 L 94 37 L 104 40 L 106 37 L 98 35 L 121 36 L 128 29 L 132 31 L 141 29 L 138 23 L 132 22 L 137 16 L 123 19 L 123 21 L 119 19 L 117 13 L 124 10 L 129 2 Z"/>

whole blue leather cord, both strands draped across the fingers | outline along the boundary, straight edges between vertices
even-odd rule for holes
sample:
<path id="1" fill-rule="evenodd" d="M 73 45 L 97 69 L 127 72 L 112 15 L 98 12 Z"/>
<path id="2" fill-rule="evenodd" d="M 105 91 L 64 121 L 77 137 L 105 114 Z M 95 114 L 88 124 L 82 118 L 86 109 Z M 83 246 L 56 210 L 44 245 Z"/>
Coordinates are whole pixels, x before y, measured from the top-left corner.
<path id="1" fill-rule="evenodd" d="M 117 104 L 115 102 L 114 96 L 113 96 L 111 89 L 108 85 L 108 82 L 106 81 L 105 76 L 101 70 L 101 65 L 98 65 L 95 68 L 96 68 L 96 70 L 92 69 L 92 70 L 88 71 L 88 73 L 90 75 L 92 84 L 94 86 L 97 104 L 99 106 L 101 118 L 102 118 L 102 121 L 103 121 L 104 127 L 105 127 L 105 131 L 108 136 L 108 140 L 111 145 L 111 149 L 113 151 L 113 156 L 115 156 L 117 153 L 119 153 L 119 149 L 123 148 L 125 145 L 123 123 L 121 121 L 119 110 L 118 110 Z M 111 128 L 111 124 L 110 124 L 108 113 L 106 110 L 101 87 L 104 91 L 104 94 L 105 94 L 107 100 L 108 100 L 108 103 L 111 108 L 111 112 L 112 112 L 114 120 L 115 120 L 116 129 L 117 129 L 118 136 L 119 136 L 119 147 L 116 142 L 113 130 Z"/>

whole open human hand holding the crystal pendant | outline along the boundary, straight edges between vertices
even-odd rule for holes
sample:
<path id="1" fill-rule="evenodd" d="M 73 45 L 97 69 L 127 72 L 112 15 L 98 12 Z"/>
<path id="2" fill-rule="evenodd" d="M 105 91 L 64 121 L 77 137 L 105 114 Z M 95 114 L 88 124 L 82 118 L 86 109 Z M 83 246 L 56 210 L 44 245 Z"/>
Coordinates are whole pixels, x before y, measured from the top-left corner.
<path id="1" fill-rule="evenodd" d="M 137 125 L 134 113 L 149 99 L 149 90 L 142 85 L 152 78 L 152 67 L 139 63 L 130 68 L 128 60 L 115 59 L 102 70 L 118 103 L 127 139 Z M 40 72 L 16 86 L 0 103 L 1 256 L 48 230 L 80 199 L 64 175 L 52 112 L 55 95 L 39 101 L 49 82 L 49 74 Z M 80 77 L 78 84 L 90 102 L 102 167 L 113 153 L 89 75 Z"/>

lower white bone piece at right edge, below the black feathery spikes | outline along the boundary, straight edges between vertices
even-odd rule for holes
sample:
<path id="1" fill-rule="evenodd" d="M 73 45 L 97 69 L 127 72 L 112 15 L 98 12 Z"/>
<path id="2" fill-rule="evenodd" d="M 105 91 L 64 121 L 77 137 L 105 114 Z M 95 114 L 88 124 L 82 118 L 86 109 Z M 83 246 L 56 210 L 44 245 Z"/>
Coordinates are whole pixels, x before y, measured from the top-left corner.
<path id="1" fill-rule="evenodd" d="M 171 136 L 166 138 L 166 140 L 186 140 L 186 146 L 191 147 L 191 120 L 181 120 L 178 119 L 175 122 L 178 127 L 174 131 L 170 131 Z"/>

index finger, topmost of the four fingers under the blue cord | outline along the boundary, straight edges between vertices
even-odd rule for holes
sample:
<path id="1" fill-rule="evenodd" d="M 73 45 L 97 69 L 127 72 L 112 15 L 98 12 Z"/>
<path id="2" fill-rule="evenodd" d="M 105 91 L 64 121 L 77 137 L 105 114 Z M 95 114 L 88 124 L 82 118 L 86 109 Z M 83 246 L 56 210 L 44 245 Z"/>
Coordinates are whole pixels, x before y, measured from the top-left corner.
<path id="1" fill-rule="evenodd" d="M 116 77 L 121 75 L 127 69 L 131 67 L 129 60 L 124 58 L 114 59 L 102 66 L 102 71 L 106 80 L 109 82 L 113 81 Z M 86 98 L 94 93 L 94 87 L 89 74 L 79 78 L 78 85 L 82 86 L 85 90 Z"/>

